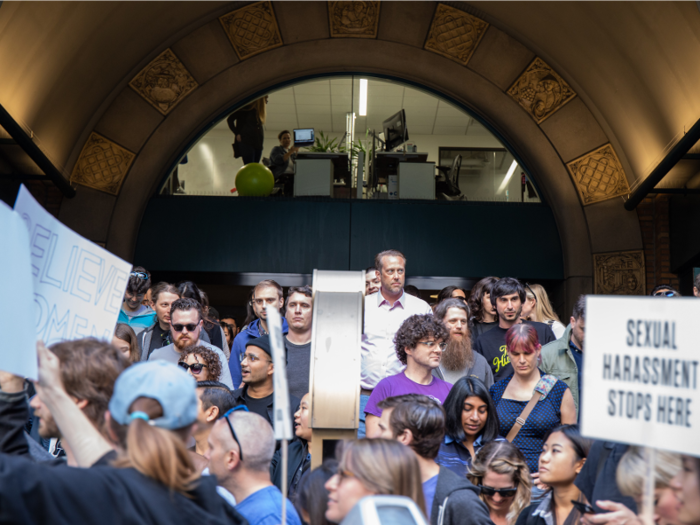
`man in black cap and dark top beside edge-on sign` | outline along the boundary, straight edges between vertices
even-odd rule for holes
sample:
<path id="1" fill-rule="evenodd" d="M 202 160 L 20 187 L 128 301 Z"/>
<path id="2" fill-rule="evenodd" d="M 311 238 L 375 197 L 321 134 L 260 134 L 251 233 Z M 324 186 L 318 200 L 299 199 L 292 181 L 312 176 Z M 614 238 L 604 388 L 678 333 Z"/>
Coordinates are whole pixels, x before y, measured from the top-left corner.
<path id="1" fill-rule="evenodd" d="M 234 401 L 237 405 L 244 405 L 251 412 L 262 416 L 270 425 L 273 425 L 274 421 L 274 372 L 270 336 L 263 335 L 248 341 L 241 360 L 243 387 L 233 393 Z M 299 398 L 290 395 L 292 420 L 297 406 Z"/>

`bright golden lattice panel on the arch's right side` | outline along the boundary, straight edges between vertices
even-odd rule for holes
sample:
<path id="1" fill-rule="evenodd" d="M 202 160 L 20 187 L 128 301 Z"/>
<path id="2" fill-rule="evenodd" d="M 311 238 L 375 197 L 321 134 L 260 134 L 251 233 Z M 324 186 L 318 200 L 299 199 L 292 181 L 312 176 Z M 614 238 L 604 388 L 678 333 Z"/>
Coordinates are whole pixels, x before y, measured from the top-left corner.
<path id="1" fill-rule="evenodd" d="M 584 206 L 630 192 L 625 171 L 610 144 L 569 162 L 566 167 Z"/>

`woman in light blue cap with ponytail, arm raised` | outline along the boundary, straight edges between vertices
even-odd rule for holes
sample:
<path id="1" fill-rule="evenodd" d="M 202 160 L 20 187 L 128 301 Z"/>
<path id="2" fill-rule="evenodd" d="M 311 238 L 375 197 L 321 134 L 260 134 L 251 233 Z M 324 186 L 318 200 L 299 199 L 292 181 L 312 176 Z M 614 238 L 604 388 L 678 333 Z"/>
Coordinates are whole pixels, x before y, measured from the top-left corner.
<path id="1" fill-rule="evenodd" d="M 96 468 L 47 466 L 0 454 L 3 523 L 244 522 L 217 495 L 216 479 L 200 478 L 188 453 L 186 442 L 197 419 L 192 377 L 162 360 L 137 363 L 122 372 L 105 414 L 115 451 L 66 393 L 58 356 L 41 343 L 37 353 L 35 384 L 42 401 L 77 465 Z M 13 403 L 7 398 L 3 402 Z M 26 413 L 26 401 L 19 399 L 15 408 L 20 415 Z"/>

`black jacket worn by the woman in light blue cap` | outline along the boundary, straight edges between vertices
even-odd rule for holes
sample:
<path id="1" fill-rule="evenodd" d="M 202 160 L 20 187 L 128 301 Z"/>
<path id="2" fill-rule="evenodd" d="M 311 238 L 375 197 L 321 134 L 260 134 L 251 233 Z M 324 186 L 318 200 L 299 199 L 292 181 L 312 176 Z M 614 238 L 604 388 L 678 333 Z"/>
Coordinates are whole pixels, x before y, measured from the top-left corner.
<path id="1" fill-rule="evenodd" d="M 102 460 L 88 469 L 31 461 L 23 431 L 27 415 L 24 393 L 0 393 L 3 525 L 248 523 L 216 492 L 213 476 L 203 476 L 188 498 L 135 469 L 110 467 Z"/>

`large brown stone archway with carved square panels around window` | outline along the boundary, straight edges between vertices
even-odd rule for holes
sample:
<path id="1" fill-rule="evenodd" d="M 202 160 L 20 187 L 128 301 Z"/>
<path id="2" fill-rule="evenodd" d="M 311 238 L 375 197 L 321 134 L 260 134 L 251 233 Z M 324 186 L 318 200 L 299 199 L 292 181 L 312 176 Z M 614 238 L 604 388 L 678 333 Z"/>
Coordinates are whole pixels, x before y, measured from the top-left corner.
<path id="1" fill-rule="evenodd" d="M 347 11 L 356 4 L 359 10 Z M 81 186 L 64 201 L 61 219 L 130 259 L 165 171 L 232 104 L 299 77 L 377 74 L 469 108 L 529 167 L 559 228 L 567 310 L 579 293 L 593 291 L 596 274 L 597 292 L 618 291 L 616 275 L 629 272 L 643 283 L 643 263 L 635 262 L 638 221 L 612 200 L 629 188 L 624 152 L 566 80 L 462 9 L 426 1 L 407 12 L 379 4 L 315 0 L 292 11 L 263 0 L 205 21 L 159 50 L 79 145 L 72 180 Z M 251 24 L 261 32 L 241 29 Z M 103 168 L 95 173 L 96 165 Z"/>

